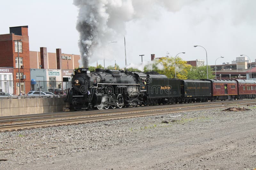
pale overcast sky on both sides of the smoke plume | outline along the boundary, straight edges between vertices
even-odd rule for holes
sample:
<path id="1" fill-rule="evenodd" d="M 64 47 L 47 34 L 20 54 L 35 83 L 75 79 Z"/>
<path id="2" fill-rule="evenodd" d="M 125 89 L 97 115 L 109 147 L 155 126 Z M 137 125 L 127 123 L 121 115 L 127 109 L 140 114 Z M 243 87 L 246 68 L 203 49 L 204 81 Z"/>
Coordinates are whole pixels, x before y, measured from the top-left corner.
<path id="1" fill-rule="evenodd" d="M 150 60 L 150 54 L 156 57 L 175 56 L 184 60 L 203 59 L 208 65 L 236 60 L 240 54 L 248 55 L 254 62 L 256 45 L 256 1 L 255 0 L 170 0 L 169 6 L 148 5 L 134 8 L 140 17 L 126 22 L 124 35 L 117 35 L 103 51 L 108 53 L 106 65 L 115 61 L 124 67 L 124 37 L 126 38 L 127 63 L 140 63 Z M 161 2 L 156 0 L 156 2 Z M 29 50 L 80 54 L 79 33 L 76 30 L 78 8 L 72 0 L 12 0 L 1 2 L 0 34 L 9 33 L 9 27 L 28 25 Z M 172 8 L 173 7 L 173 8 Z M 140 13 L 148 9 L 148 12 Z M 124 9 L 125 10 L 125 9 Z M 111 50 L 108 50 L 111 49 Z M 111 53 L 111 54 L 109 54 Z M 103 65 L 102 56 L 93 56 Z"/>

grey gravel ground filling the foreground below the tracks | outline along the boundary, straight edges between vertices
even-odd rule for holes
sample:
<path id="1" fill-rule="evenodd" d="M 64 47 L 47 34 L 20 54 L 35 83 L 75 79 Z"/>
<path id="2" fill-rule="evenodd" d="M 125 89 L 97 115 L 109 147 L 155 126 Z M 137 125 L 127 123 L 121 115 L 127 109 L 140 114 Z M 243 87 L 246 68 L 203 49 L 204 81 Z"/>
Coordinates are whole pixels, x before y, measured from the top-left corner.
<path id="1" fill-rule="evenodd" d="M 255 108 L 3 132 L 0 169 L 254 169 Z"/>

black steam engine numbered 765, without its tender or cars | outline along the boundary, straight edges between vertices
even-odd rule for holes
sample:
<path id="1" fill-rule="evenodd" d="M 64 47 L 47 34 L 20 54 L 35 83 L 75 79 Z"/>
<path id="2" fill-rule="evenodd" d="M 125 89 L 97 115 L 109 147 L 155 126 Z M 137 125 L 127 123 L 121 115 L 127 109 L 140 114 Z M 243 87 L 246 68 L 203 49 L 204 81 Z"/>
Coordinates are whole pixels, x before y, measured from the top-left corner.
<path id="1" fill-rule="evenodd" d="M 145 104 L 145 79 L 146 74 L 136 72 L 98 68 L 90 72 L 78 68 L 74 70 L 67 101 L 74 110 Z"/>

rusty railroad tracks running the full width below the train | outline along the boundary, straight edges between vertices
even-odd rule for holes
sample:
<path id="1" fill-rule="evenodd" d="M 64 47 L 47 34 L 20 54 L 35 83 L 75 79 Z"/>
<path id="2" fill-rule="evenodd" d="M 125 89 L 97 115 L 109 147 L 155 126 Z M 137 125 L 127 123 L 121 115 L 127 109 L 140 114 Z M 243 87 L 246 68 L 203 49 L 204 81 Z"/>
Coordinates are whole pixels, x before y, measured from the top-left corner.
<path id="1" fill-rule="evenodd" d="M 253 104 L 255 100 L 218 101 L 0 117 L 0 132 Z"/>

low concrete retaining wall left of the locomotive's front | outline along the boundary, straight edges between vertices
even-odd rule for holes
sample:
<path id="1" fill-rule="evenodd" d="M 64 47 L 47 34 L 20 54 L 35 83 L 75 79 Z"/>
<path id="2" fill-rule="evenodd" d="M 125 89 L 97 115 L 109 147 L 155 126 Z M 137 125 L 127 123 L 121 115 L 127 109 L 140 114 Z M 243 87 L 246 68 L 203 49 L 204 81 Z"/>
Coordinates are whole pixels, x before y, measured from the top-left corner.
<path id="1" fill-rule="evenodd" d="M 63 111 L 64 98 L 19 98 L 0 99 L 0 117 Z"/>

